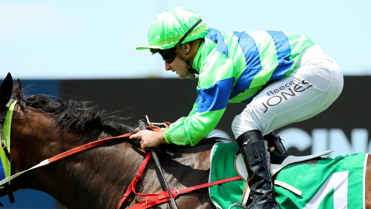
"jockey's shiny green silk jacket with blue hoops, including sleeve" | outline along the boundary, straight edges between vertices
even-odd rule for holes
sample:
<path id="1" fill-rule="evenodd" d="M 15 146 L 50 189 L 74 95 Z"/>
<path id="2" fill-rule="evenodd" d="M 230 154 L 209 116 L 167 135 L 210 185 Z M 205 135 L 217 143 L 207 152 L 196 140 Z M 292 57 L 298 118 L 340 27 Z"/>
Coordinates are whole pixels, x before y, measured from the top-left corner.
<path id="1" fill-rule="evenodd" d="M 200 74 L 193 112 L 172 123 L 167 142 L 196 145 L 215 128 L 227 103 L 250 103 L 265 84 L 288 75 L 299 55 L 315 45 L 305 35 L 280 31 L 209 28 L 204 39 L 193 61 Z"/>

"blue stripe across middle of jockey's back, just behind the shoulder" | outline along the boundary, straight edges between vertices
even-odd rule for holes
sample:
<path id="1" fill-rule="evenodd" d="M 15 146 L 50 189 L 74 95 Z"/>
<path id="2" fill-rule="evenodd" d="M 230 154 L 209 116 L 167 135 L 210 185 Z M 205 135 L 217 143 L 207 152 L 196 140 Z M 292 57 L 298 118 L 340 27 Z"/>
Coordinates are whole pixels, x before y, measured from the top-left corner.
<path id="1" fill-rule="evenodd" d="M 262 64 L 260 63 L 259 49 L 254 39 L 246 32 L 234 31 L 233 33 L 238 38 L 238 43 L 246 59 L 246 69 L 234 85 L 233 92 L 235 92 L 250 88 L 251 81 L 262 69 Z"/>

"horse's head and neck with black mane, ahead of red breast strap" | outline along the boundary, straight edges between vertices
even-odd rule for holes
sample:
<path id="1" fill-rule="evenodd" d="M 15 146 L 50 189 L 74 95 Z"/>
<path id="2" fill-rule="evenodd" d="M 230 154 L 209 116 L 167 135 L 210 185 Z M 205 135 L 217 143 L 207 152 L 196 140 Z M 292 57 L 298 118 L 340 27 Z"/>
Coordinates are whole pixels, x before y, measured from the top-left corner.
<path id="1" fill-rule="evenodd" d="M 0 87 L 0 109 L 10 98 L 14 106 L 10 132 L 10 154 L 19 171 L 69 149 L 121 132 L 131 127 L 102 119 L 86 103 L 48 98 L 45 95 L 22 95 L 22 84 L 8 73 Z M 7 116 L 8 117 L 8 116 Z M 120 135 L 121 135 L 120 134 Z M 109 142 L 98 148 L 67 157 L 60 162 L 39 167 L 11 180 L 10 189 L 36 189 L 46 192 L 68 208 L 115 207 L 129 184 L 125 178 L 126 164 L 117 168 L 116 162 L 138 158 L 145 152 L 135 152 L 132 144 Z M 136 155 L 136 156 L 133 156 Z M 127 165 L 134 166 L 136 161 Z M 12 170 L 11 175 L 15 174 Z M 0 196 L 6 195 L 0 190 Z M 99 200 L 99 204 L 97 204 Z"/>

